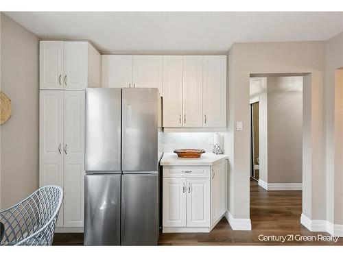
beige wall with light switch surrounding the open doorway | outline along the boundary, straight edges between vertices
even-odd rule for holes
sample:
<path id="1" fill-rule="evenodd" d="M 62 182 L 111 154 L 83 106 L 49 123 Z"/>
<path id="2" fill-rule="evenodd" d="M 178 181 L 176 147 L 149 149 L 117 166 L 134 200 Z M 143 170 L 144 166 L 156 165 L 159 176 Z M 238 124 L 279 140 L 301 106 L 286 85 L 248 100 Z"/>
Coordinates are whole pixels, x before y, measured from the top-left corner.
<path id="1" fill-rule="evenodd" d="M 324 219 L 324 72 L 325 42 L 261 42 L 237 43 L 228 52 L 228 138 L 226 152 L 230 154 L 228 210 L 237 219 L 249 219 L 250 175 L 250 74 L 311 73 L 311 105 L 309 127 L 311 148 L 307 162 L 311 162 L 310 190 L 303 196 L 303 210 L 310 219 Z M 244 130 L 236 131 L 237 121 Z M 307 186 L 307 185 L 305 185 Z"/>

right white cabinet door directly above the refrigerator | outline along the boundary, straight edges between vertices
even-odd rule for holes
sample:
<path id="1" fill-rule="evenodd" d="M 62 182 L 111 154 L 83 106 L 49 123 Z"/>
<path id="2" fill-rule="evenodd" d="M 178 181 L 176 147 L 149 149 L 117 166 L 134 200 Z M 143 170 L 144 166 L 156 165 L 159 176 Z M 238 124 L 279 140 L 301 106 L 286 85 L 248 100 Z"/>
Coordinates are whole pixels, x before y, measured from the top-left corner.
<path id="1" fill-rule="evenodd" d="M 158 88 L 162 96 L 163 57 L 132 56 L 133 87 Z"/>

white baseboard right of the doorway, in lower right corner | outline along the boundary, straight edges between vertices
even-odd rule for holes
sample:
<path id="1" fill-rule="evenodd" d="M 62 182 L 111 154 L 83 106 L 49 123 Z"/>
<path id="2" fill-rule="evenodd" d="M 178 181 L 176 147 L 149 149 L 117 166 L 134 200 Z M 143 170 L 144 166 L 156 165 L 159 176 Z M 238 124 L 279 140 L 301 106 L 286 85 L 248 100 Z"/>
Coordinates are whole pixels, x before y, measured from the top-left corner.
<path id="1" fill-rule="evenodd" d="M 328 232 L 333 236 L 343 237 L 343 225 L 333 224 L 324 219 L 309 219 L 303 213 L 301 214 L 300 223 L 311 232 Z"/>

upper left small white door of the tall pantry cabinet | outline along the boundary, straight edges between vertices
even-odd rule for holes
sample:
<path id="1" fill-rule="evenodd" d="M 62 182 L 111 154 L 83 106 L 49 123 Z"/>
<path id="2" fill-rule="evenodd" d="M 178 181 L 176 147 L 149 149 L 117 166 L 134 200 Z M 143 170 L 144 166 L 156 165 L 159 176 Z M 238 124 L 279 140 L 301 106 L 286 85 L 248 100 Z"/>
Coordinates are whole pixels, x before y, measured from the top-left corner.
<path id="1" fill-rule="evenodd" d="M 39 43 L 39 88 L 62 89 L 63 42 L 40 41 Z"/>

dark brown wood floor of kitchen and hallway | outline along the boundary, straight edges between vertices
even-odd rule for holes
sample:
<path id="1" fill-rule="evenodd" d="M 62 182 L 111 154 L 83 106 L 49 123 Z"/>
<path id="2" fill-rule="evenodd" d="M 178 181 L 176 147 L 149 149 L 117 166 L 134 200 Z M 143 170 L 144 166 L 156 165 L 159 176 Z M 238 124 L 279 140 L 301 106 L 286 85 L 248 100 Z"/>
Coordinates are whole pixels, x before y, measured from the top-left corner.
<path id="1" fill-rule="evenodd" d="M 343 245 L 343 238 L 332 241 L 296 241 L 297 236 L 316 236 L 324 232 L 309 232 L 300 224 L 301 191 L 265 191 L 250 181 L 251 231 L 234 231 L 223 218 L 210 233 L 178 233 L 160 235 L 159 245 Z M 294 240 L 259 241 L 259 235 L 288 236 Z M 83 234 L 58 233 L 54 245 L 82 245 Z"/>

